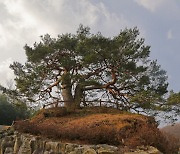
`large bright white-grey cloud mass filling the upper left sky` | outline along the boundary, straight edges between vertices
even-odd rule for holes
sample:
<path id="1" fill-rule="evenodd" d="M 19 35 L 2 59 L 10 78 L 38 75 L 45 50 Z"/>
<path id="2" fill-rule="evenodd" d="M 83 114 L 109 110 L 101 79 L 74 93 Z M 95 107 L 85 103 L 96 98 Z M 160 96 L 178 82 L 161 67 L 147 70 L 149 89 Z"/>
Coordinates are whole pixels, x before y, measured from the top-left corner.
<path id="1" fill-rule="evenodd" d="M 89 0 L 0 0 L 0 14 L 0 84 L 13 78 L 10 63 L 25 62 L 23 46 L 38 42 L 40 35 L 75 33 L 82 23 L 112 36 L 130 25 L 123 14 Z"/>

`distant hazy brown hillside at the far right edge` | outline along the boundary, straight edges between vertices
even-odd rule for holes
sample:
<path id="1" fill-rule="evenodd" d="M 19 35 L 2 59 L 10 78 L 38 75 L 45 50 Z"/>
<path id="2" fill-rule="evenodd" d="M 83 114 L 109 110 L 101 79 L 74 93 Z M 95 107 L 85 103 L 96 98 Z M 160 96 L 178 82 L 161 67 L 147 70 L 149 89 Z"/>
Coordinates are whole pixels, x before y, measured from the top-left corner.
<path id="1" fill-rule="evenodd" d="M 163 127 L 161 130 L 163 132 L 166 132 L 175 136 L 176 138 L 180 140 L 180 123 L 176 123 L 173 126 L 169 125 L 169 126 Z"/>

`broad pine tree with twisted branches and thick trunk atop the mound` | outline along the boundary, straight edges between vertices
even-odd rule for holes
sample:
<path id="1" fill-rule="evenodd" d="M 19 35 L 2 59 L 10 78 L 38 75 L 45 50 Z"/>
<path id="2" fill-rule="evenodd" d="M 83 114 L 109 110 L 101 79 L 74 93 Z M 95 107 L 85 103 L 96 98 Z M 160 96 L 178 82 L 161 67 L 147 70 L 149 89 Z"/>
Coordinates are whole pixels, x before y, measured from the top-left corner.
<path id="1" fill-rule="evenodd" d="M 76 34 L 57 38 L 47 34 L 24 49 L 27 62 L 10 67 L 16 76 L 16 93 L 30 102 L 64 100 L 68 109 L 77 109 L 83 98 L 99 98 L 128 111 L 169 108 L 164 100 L 166 72 L 150 60 L 150 46 L 137 28 L 110 38 L 80 25 Z"/>

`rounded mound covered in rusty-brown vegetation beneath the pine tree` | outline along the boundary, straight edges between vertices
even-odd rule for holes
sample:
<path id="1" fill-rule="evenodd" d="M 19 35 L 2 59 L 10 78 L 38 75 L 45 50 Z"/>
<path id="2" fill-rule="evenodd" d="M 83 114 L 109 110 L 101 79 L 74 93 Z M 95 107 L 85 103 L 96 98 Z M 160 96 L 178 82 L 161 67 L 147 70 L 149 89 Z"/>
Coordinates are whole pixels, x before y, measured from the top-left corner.
<path id="1" fill-rule="evenodd" d="M 65 108 L 43 109 L 30 120 L 16 122 L 15 129 L 63 142 L 130 148 L 150 145 L 162 152 L 177 148 L 167 146 L 154 118 L 112 108 L 85 108 L 74 113 Z"/>

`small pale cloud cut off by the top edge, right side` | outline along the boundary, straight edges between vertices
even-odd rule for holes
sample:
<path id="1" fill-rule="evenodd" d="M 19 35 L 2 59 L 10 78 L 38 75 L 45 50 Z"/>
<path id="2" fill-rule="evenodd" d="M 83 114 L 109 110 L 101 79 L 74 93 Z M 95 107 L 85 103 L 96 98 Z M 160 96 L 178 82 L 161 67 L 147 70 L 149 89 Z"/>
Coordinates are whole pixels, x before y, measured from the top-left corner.
<path id="1" fill-rule="evenodd" d="M 134 1 L 151 12 L 155 12 L 165 2 L 164 0 L 134 0 Z"/>

